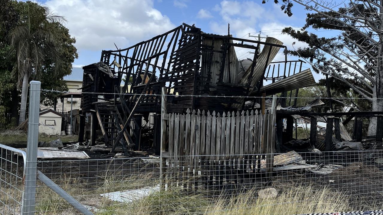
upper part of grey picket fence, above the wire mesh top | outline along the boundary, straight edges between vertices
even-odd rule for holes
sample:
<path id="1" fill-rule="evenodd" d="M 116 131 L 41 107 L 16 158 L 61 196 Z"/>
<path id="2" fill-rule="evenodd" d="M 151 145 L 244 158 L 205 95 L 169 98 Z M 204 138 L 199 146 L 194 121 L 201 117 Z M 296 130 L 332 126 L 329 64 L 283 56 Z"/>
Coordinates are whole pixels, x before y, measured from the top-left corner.
<path id="1" fill-rule="evenodd" d="M 266 154 L 273 145 L 275 117 L 258 110 L 220 113 L 187 110 L 169 114 L 169 157 L 211 155 L 210 160 Z M 225 155 L 225 156 L 224 156 Z M 191 157 L 190 162 L 196 158 Z"/>

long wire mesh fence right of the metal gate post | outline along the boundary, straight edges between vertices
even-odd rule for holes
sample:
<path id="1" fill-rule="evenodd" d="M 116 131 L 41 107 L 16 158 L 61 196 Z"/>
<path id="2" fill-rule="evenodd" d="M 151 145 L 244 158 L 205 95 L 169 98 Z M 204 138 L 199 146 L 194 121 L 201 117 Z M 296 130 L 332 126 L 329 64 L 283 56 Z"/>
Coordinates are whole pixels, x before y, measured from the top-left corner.
<path id="1" fill-rule="evenodd" d="M 271 171 L 265 157 L 166 157 L 164 178 L 159 157 L 50 160 L 38 169 L 95 215 L 381 209 L 382 150 L 274 154 Z M 35 214 L 80 213 L 38 182 Z"/>

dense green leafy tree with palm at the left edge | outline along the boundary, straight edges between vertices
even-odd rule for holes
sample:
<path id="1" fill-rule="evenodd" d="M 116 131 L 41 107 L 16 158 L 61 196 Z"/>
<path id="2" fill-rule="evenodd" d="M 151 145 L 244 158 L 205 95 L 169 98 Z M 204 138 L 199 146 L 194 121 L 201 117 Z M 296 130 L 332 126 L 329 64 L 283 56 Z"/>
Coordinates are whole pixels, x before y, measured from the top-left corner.
<path id="1" fill-rule="evenodd" d="M 72 63 L 78 57 L 77 49 L 75 39 L 63 25 L 65 19 L 48 7 L 30 1 L 0 1 L 0 10 L 3 10 L 0 11 L 0 60 L 4 61 L 0 64 L 0 73 L 4 74 L 1 78 L 10 77 L 12 92 L 15 86 L 22 86 L 21 122 L 26 110 L 28 82 L 34 79 L 41 81 L 43 89 L 67 90 L 63 77 L 71 73 Z M 0 84 L 6 83 L 0 80 Z M 4 91 L 11 95 L 9 89 L 4 88 Z M 41 100 L 45 105 L 54 105 L 57 97 L 58 94 L 43 93 Z M 5 106 L 10 107 L 9 104 Z"/>

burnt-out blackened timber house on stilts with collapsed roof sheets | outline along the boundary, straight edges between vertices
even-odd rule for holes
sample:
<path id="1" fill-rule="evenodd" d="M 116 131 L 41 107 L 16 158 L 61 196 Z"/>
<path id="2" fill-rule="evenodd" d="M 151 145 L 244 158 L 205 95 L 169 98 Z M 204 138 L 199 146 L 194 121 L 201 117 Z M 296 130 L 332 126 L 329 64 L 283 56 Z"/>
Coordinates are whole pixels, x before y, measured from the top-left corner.
<path id="1" fill-rule="evenodd" d="M 254 55 L 240 60 L 235 47 Z M 92 143 L 100 129 L 113 150 L 120 144 L 124 150 L 139 149 L 142 119 L 149 121 L 150 113 L 160 113 L 162 87 L 173 95 L 167 100 L 171 113 L 242 110 L 245 103 L 260 103 L 244 98 L 250 95 L 282 92 L 283 97 L 296 97 L 299 88 L 315 81 L 310 70 L 302 71 L 303 61 L 288 61 L 285 54 L 285 61 L 272 62 L 283 50 L 286 46 L 272 37 L 261 42 L 235 38 L 229 32 L 207 34 L 185 23 L 128 48 L 103 50 L 100 62 L 83 67 L 79 141 L 84 136 L 84 117 L 90 116 Z M 279 102 L 286 106 L 294 100 Z M 154 142 L 159 119 L 154 116 Z"/>

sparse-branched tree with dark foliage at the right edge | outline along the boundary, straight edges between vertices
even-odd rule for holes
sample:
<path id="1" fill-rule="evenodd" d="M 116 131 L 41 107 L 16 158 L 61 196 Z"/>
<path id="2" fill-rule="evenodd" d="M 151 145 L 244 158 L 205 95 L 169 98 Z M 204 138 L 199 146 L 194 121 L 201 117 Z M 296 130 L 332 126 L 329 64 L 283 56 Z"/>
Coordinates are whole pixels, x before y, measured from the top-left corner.
<path id="1" fill-rule="evenodd" d="M 282 0 L 281 9 L 289 16 L 292 2 L 304 6 L 310 13 L 301 30 L 287 27 L 282 32 L 307 43 L 308 47 L 288 52 L 306 58 L 314 71 L 331 77 L 333 84 L 330 85 L 336 92 L 343 91 L 346 94 L 342 95 L 347 95 L 350 91 L 361 98 L 359 103 L 341 100 L 346 106 L 383 111 L 383 0 L 340 3 Z M 332 34 L 320 37 L 306 31 L 308 28 L 332 30 Z M 371 118 L 369 126 L 368 134 L 374 135 L 376 118 Z"/>

